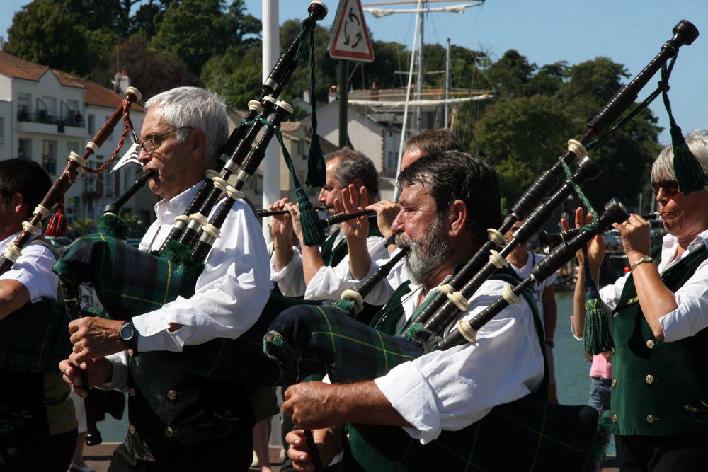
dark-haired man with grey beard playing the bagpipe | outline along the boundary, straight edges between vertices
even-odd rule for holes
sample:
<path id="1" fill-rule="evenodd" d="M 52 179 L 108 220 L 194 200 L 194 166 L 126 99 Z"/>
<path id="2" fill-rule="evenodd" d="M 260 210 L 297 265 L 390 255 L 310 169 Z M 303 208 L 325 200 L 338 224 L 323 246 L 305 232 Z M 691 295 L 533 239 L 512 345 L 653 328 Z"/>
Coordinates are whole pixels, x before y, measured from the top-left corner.
<path id="1" fill-rule="evenodd" d="M 398 234 L 397 245 L 409 248 L 406 269 L 411 281 L 396 289 L 372 321 L 389 334 L 404 333 L 426 296 L 469 260 L 484 243 L 486 229 L 501 224 L 498 176 L 482 159 L 462 151 L 430 154 L 411 163 L 399 175 L 399 183 L 401 212 L 392 229 Z M 462 316 L 469 318 L 498 299 L 503 286 L 494 277 L 484 282 Z M 298 427 L 316 428 L 322 462 L 329 464 L 342 449 L 356 447 L 359 454 L 369 449 L 376 455 L 379 448 L 396 447 L 392 437 L 402 433 L 391 426 L 403 428 L 420 444 L 434 442 L 441 434 L 484 418 L 495 405 L 537 391 L 543 377 L 535 314 L 522 301 L 481 328 L 476 343 L 430 352 L 370 381 L 296 384 L 286 391 L 282 408 Z M 356 435 L 347 429 L 343 444 L 346 423 L 379 426 L 371 430 L 375 439 L 368 437 L 356 445 Z M 287 441 L 292 446 L 288 454 L 299 470 L 312 470 L 303 432 L 290 432 Z M 345 455 L 348 469 L 372 466 L 358 459 L 348 463 L 351 458 Z"/>

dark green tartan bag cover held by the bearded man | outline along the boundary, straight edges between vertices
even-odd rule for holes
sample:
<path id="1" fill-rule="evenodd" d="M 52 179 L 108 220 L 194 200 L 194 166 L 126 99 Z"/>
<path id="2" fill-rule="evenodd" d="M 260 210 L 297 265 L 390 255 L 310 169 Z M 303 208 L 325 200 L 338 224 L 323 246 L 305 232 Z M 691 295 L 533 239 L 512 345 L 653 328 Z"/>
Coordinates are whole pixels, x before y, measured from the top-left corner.
<path id="1" fill-rule="evenodd" d="M 285 372 L 297 372 L 300 359 L 314 357 L 340 383 L 374 379 L 424 353 L 423 345 L 359 323 L 333 306 L 287 309 L 275 318 L 263 346 Z M 397 427 L 346 428 L 345 466 L 367 471 L 443 470 L 441 464 L 449 470 L 583 470 L 595 468 L 606 446 L 597 434 L 597 410 L 533 396 L 498 405 L 483 420 L 443 432 L 426 446 Z M 508 454 L 503 437 L 513 437 L 514 454 Z M 497 465 L 505 461 L 510 465 Z"/>

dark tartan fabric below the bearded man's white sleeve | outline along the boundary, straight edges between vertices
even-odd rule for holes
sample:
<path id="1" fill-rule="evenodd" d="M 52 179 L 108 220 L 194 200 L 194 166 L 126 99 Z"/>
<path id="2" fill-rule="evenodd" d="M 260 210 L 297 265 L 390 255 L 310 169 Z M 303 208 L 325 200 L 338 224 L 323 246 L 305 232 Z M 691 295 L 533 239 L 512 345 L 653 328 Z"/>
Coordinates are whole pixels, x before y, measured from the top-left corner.
<path id="1" fill-rule="evenodd" d="M 586 471 L 605 442 L 598 411 L 534 396 L 498 405 L 459 431 L 423 446 L 400 427 L 345 425 L 347 471 Z"/>

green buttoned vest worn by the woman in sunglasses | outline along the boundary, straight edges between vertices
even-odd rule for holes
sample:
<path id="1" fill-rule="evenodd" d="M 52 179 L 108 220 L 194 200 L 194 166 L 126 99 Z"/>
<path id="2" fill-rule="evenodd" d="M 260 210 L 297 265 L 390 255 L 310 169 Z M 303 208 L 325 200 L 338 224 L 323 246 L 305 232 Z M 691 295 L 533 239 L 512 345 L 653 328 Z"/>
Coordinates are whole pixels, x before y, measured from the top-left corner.
<path id="1" fill-rule="evenodd" d="M 659 254 L 652 253 L 658 263 Z M 672 291 L 683 287 L 707 258 L 705 247 L 688 255 L 661 274 L 663 283 Z M 636 298 L 632 275 L 612 318 L 615 434 L 708 432 L 708 329 L 672 343 L 654 338 Z"/>

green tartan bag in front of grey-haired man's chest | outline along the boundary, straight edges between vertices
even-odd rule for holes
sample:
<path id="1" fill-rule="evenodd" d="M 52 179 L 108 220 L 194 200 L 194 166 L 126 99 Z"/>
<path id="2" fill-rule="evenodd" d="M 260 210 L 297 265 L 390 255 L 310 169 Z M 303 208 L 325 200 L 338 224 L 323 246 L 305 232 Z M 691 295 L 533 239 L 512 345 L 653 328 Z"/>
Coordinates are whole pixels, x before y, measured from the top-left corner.
<path id="1" fill-rule="evenodd" d="M 190 297 L 201 270 L 128 246 L 110 232 L 76 239 L 54 271 L 62 281 L 93 283 L 98 299 L 115 319 L 159 309 L 178 296 Z"/>

